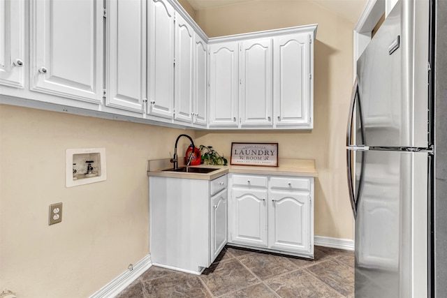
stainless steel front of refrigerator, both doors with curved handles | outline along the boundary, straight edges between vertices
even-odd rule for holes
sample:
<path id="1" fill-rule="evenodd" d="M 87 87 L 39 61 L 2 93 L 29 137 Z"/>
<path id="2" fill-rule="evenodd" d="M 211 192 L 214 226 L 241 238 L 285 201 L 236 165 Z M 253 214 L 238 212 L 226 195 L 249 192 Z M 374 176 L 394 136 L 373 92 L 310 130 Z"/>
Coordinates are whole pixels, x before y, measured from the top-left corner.
<path id="1" fill-rule="evenodd" d="M 356 298 L 434 292 L 434 20 L 434 1 L 398 1 L 357 62 L 346 137 Z"/>

